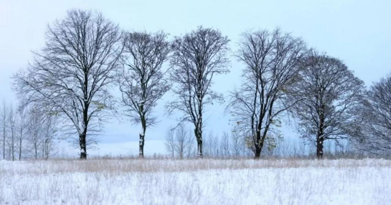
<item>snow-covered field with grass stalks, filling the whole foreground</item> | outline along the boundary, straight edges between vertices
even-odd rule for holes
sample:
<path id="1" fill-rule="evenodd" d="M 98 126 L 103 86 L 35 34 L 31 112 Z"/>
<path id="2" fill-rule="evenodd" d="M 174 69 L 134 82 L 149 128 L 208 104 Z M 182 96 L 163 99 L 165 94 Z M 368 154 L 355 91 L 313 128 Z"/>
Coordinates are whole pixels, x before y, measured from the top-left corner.
<path id="1" fill-rule="evenodd" d="M 380 159 L 0 161 L 0 179 L 0 204 L 391 204 Z"/>

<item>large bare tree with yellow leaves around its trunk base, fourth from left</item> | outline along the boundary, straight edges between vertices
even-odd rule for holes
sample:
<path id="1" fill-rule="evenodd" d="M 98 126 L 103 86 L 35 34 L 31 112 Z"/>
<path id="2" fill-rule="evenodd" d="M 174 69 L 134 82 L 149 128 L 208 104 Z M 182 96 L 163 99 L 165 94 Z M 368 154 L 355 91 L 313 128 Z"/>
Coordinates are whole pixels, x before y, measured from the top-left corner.
<path id="1" fill-rule="evenodd" d="M 301 38 L 279 29 L 273 32 L 245 32 L 239 43 L 237 58 L 245 64 L 243 82 L 231 92 L 230 109 L 239 131 L 247 136 L 255 158 L 260 157 L 265 139 L 273 142 L 278 135 L 278 119 L 295 102 L 291 86 L 300 79 L 300 59 L 307 52 Z M 270 144 L 271 148 L 275 146 Z"/>

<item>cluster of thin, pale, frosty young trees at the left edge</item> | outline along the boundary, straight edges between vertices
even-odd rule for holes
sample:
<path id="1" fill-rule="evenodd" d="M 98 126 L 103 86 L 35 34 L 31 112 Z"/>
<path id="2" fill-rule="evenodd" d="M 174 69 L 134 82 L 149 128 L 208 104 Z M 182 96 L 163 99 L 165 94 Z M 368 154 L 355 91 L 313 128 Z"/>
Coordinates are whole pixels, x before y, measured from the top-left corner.
<path id="1" fill-rule="evenodd" d="M 34 107 L 18 109 L 5 101 L 0 116 L 2 159 L 47 159 L 54 154 L 53 141 L 57 138 L 55 118 L 41 114 Z"/>

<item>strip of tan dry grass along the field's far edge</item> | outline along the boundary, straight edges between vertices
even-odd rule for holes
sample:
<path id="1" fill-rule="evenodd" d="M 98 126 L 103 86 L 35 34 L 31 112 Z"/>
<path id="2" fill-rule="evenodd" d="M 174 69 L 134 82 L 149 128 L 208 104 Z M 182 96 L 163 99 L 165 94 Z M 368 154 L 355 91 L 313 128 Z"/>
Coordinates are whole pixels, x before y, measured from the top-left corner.
<path id="1" fill-rule="evenodd" d="M 3 163 L 4 164 L 4 163 Z M 73 172 L 182 172 L 208 169 L 259 169 L 259 168 L 306 168 L 306 167 L 391 167 L 391 160 L 384 159 L 89 159 L 89 160 L 29 160 L 7 162 L 0 173 L 45 174 Z M 25 169 L 28 167 L 28 169 Z"/>

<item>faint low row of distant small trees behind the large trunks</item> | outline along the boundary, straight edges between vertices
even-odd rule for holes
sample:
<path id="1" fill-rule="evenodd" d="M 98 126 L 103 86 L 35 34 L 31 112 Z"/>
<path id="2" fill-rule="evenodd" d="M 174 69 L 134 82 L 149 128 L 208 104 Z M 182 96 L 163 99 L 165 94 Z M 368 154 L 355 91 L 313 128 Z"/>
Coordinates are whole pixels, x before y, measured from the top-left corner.
<path id="1" fill-rule="evenodd" d="M 169 128 L 165 135 L 165 147 L 172 158 L 193 158 L 197 156 L 194 136 L 183 125 L 177 129 Z M 254 156 L 251 142 L 237 132 L 223 132 L 219 134 L 208 133 L 203 137 L 204 157 L 219 158 L 248 158 Z M 273 145 L 273 146 L 271 146 Z M 360 158 L 368 157 L 364 152 L 355 149 L 348 141 L 325 141 L 324 149 L 328 159 L 333 157 Z M 264 146 L 262 153 L 265 157 L 292 157 L 312 158 L 316 156 L 316 146 L 297 139 L 279 138 L 273 144 Z"/>

